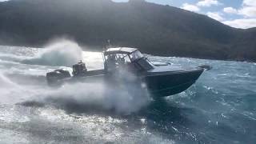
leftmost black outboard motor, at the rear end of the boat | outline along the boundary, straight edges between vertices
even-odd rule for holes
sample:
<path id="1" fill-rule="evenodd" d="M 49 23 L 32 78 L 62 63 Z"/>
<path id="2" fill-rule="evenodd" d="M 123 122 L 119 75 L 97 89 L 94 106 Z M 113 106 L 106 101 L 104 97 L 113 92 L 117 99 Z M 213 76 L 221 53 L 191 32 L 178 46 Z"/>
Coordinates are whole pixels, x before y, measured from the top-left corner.
<path id="1" fill-rule="evenodd" d="M 46 74 L 46 80 L 49 85 L 58 84 L 59 80 L 70 77 L 71 75 L 68 70 L 54 70 Z"/>

